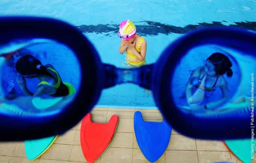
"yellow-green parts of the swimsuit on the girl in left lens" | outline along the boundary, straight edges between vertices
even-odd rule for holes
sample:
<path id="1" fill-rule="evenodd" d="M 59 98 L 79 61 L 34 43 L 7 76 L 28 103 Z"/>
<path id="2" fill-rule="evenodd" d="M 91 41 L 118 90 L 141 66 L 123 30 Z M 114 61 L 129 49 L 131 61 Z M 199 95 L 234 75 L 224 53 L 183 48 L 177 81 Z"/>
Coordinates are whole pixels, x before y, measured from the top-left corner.
<path id="1" fill-rule="evenodd" d="M 45 85 L 49 85 L 49 86 L 52 86 L 52 87 L 58 89 L 58 88 L 60 87 L 60 84 L 61 84 L 60 75 L 57 73 L 56 70 L 54 70 L 54 69 L 52 69 L 52 68 L 50 68 L 50 67 L 47 68 L 47 69 L 53 71 L 53 72 L 56 74 L 56 76 L 58 77 L 58 82 L 56 82 L 56 83 L 53 84 L 53 85 L 50 85 L 50 84 L 49 84 L 48 82 L 46 82 L 46 81 L 41 81 L 41 82 L 38 84 L 38 86 L 40 86 L 41 84 L 45 84 Z M 68 90 L 69 90 L 69 94 L 68 94 L 68 95 L 74 94 L 74 93 L 76 92 L 75 88 L 73 87 L 73 85 L 72 85 L 71 83 L 69 83 L 69 82 L 64 82 L 63 84 L 64 84 L 65 86 L 67 86 L 67 88 L 68 88 Z"/>

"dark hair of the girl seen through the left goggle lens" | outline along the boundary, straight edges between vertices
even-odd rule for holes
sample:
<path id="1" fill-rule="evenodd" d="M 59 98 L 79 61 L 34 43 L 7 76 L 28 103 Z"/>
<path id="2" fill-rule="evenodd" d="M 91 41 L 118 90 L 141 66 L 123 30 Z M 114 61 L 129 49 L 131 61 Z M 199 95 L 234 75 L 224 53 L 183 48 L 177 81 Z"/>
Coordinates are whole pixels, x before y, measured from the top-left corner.
<path id="1" fill-rule="evenodd" d="M 18 59 L 15 68 L 21 75 L 38 75 L 46 73 L 46 68 L 32 55 L 24 55 Z"/>

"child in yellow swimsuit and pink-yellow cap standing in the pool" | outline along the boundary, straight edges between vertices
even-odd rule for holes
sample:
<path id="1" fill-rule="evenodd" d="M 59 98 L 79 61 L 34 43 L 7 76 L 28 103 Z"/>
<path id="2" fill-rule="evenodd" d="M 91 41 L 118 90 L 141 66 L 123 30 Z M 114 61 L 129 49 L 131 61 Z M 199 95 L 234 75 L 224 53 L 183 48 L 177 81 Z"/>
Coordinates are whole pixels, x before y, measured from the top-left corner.
<path id="1" fill-rule="evenodd" d="M 133 22 L 125 20 L 120 23 L 118 36 L 122 39 L 119 53 L 126 51 L 127 67 L 140 67 L 146 64 L 147 42 L 144 37 L 136 34 Z"/>

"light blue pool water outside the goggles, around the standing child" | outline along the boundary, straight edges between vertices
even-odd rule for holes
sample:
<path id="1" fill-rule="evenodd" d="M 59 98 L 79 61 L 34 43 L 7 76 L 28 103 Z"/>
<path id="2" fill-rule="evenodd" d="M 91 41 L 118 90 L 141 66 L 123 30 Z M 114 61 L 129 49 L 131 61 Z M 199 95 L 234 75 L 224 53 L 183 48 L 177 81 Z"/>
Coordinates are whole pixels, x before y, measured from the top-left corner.
<path id="1" fill-rule="evenodd" d="M 193 29 L 215 25 L 256 29 L 256 0 L 1 0 L 0 16 L 6 15 L 46 16 L 69 22 L 95 45 L 104 63 L 125 67 L 125 54 L 119 54 L 121 40 L 116 34 L 122 20 L 133 21 L 138 34 L 145 37 L 146 61 L 150 64 L 157 61 L 169 43 Z M 67 59 L 60 57 L 59 62 L 64 61 Z M 61 75 L 74 80 L 65 73 Z M 103 90 L 98 105 L 155 107 L 151 92 L 133 84 Z"/>

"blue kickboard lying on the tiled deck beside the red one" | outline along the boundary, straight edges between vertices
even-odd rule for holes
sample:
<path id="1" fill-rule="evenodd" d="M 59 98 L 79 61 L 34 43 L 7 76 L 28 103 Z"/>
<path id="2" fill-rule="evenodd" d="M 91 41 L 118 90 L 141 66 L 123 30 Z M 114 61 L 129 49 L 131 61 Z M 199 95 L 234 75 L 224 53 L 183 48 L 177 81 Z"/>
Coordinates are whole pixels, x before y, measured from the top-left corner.
<path id="1" fill-rule="evenodd" d="M 134 113 L 134 134 L 143 155 L 151 163 L 165 152 L 171 137 L 171 126 L 163 122 L 145 122 L 141 112 Z"/>

